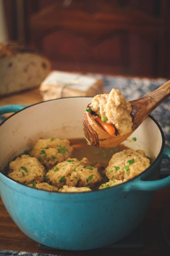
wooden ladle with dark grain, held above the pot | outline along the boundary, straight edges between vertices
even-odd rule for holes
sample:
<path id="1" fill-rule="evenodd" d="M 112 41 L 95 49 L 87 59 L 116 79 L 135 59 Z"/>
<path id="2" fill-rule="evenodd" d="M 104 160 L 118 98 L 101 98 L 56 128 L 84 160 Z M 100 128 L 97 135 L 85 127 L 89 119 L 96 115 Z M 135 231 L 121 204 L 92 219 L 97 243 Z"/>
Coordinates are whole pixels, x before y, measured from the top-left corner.
<path id="1" fill-rule="evenodd" d="M 88 144 L 101 148 L 116 147 L 118 144 L 125 141 L 146 117 L 169 96 L 170 80 L 150 94 L 130 101 L 133 126 L 132 131 L 125 135 L 109 135 L 109 133 L 94 120 L 92 114 L 85 111 L 83 116 L 83 131 Z M 87 107 L 89 107 L 89 105 Z"/>

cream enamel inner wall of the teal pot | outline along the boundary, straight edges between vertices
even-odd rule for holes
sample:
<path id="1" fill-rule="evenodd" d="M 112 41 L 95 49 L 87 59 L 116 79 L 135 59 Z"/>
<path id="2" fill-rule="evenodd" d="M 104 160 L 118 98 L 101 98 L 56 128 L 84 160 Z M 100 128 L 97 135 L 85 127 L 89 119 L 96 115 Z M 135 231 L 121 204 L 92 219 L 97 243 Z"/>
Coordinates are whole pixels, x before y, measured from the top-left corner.
<path id="1" fill-rule="evenodd" d="M 0 170 L 39 138 L 84 137 L 82 117 L 91 100 L 82 97 L 42 102 L 10 117 L 0 126 Z M 133 137 L 137 141 L 133 141 Z M 124 144 L 144 150 L 153 159 L 160 152 L 162 136 L 156 123 L 148 117 Z"/>

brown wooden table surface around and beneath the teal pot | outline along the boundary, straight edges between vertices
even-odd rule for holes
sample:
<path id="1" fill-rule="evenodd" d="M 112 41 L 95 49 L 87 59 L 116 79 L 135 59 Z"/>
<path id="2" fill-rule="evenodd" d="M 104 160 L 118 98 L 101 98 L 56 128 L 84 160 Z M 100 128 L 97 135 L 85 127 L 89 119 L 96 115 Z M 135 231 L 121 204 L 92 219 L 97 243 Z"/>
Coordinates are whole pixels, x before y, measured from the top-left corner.
<path id="1" fill-rule="evenodd" d="M 13 96 L 0 99 L 0 106 L 7 104 L 30 105 L 42 101 L 38 89 L 22 92 Z M 6 116 L 8 116 L 7 114 Z M 16 226 L 3 202 L 0 199 L 0 249 L 14 251 L 41 252 L 51 253 L 54 255 L 65 256 L 110 256 L 110 255 L 142 255 L 142 256 L 165 256 L 170 255 L 169 246 L 163 237 L 161 230 L 162 207 L 170 197 L 170 188 L 157 191 L 152 206 L 142 223 L 144 234 L 143 248 L 126 248 L 126 249 L 96 249 L 90 251 L 62 251 L 62 250 L 39 250 L 38 243 L 25 236 Z"/>

